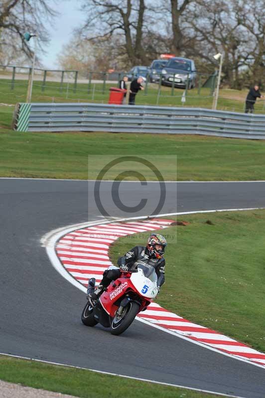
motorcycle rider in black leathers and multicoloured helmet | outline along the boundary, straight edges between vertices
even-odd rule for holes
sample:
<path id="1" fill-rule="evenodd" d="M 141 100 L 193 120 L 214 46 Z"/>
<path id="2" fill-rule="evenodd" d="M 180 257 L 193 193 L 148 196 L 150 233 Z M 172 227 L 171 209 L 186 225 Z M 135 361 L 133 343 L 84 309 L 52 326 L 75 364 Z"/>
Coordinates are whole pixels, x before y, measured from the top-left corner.
<path id="1" fill-rule="evenodd" d="M 163 235 L 152 233 L 147 241 L 146 247 L 135 246 L 129 252 L 118 260 L 120 268 L 111 265 L 103 274 L 103 279 L 97 289 L 90 293 L 87 298 L 92 305 L 95 305 L 97 299 L 106 290 L 112 281 L 121 277 L 121 271 L 128 272 L 136 269 L 138 264 L 149 265 L 155 268 L 157 275 L 158 292 L 165 282 L 165 259 L 163 258 L 166 239 Z"/>

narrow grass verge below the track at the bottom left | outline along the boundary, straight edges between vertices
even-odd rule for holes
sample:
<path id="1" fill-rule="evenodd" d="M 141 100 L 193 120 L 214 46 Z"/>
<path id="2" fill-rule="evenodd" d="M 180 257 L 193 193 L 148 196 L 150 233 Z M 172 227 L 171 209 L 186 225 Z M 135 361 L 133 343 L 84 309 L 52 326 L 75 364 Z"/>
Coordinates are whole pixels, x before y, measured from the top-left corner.
<path id="1" fill-rule="evenodd" d="M 81 398 L 214 398 L 187 389 L 0 355 L 0 380 Z"/>

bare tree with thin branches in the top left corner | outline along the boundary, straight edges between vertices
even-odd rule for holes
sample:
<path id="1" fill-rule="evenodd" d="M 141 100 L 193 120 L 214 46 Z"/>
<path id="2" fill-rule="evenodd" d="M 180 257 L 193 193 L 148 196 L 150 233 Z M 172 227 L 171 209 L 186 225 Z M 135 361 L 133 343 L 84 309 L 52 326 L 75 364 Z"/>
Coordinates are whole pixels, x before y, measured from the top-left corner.
<path id="1" fill-rule="evenodd" d="M 1 45 L 8 44 L 12 51 L 19 49 L 30 57 L 31 50 L 23 34 L 34 32 L 42 43 L 49 41 L 46 26 L 55 15 L 47 0 L 0 0 Z"/>

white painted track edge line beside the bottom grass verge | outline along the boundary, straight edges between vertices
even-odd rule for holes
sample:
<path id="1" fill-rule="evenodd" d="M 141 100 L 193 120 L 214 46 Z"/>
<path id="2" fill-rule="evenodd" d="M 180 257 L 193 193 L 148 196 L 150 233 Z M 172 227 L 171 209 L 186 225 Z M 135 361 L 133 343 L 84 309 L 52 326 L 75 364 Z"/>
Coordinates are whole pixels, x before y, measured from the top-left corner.
<path id="1" fill-rule="evenodd" d="M 168 387 L 176 387 L 176 388 L 181 388 L 181 389 L 187 389 L 187 390 L 191 390 L 191 391 L 197 391 L 197 392 L 200 392 L 200 393 L 207 393 L 207 394 L 218 395 L 218 396 L 221 396 L 221 397 L 245 398 L 245 397 L 239 397 L 239 396 L 235 396 L 235 395 L 228 395 L 228 394 L 216 393 L 216 392 L 214 392 L 214 391 L 196 389 L 196 388 L 187 387 L 187 386 L 180 386 L 180 385 L 178 385 L 178 384 L 170 384 L 170 383 L 157 382 L 157 381 L 155 381 L 155 380 L 141 379 L 141 378 L 139 378 L 139 377 L 132 377 L 132 376 L 127 376 L 127 375 L 120 375 L 120 374 L 118 374 L 118 373 L 104 372 L 104 371 L 96 370 L 96 369 L 89 369 L 89 368 L 82 368 L 82 367 L 79 367 L 79 366 L 61 364 L 61 363 L 58 363 L 58 362 L 44 361 L 44 360 L 42 360 L 42 359 L 29 358 L 29 357 L 21 357 L 21 356 L 19 356 L 19 355 L 5 354 L 5 353 L 2 353 L 2 352 L 0 352 L 0 355 L 12 357 L 12 358 L 18 358 L 18 359 L 26 359 L 26 360 L 29 360 L 29 361 L 41 362 L 41 363 L 50 364 L 50 365 L 65 366 L 65 367 L 67 367 L 67 368 L 74 368 L 74 369 L 87 370 L 87 371 L 90 371 L 90 372 L 100 373 L 100 374 L 103 374 L 103 375 L 118 376 L 118 377 L 123 377 L 123 378 L 125 378 L 125 379 L 138 380 L 138 381 L 140 381 L 140 382 L 147 382 L 147 383 L 159 384 L 159 385 L 162 385 L 162 386 L 168 386 Z"/>

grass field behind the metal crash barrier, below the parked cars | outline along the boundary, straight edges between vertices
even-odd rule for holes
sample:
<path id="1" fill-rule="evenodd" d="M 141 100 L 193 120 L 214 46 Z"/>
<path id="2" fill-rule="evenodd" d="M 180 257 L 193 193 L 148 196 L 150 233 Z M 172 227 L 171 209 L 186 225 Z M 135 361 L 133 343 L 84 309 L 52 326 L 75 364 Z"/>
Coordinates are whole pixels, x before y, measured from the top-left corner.
<path id="1" fill-rule="evenodd" d="M 45 91 L 42 91 L 42 82 L 33 83 L 33 102 L 102 102 L 107 103 L 109 99 L 109 88 L 116 87 L 116 83 L 106 84 L 105 89 L 102 83 L 87 84 L 78 83 L 76 92 L 74 85 L 64 83 L 62 90 L 59 82 L 46 82 Z M 166 106 L 192 106 L 212 108 L 213 97 L 211 89 L 204 88 L 188 90 L 186 102 L 181 102 L 183 89 L 175 88 L 173 93 L 171 87 L 161 86 L 159 98 L 157 84 L 150 84 L 147 92 L 141 91 L 137 94 L 136 103 L 142 105 L 166 105 Z M 27 81 L 15 80 L 14 89 L 11 90 L 11 81 L 0 79 L 0 98 L 4 103 L 24 102 L 26 99 Z M 218 109 L 244 112 L 244 104 L 247 97 L 247 90 L 220 90 Z M 173 94 L 173 95 L 172 95 Z M 258 100 L 255 105 L 256 113 L 265 113 L 265 101 Z"/>

